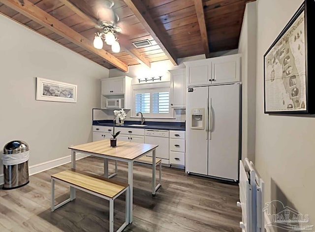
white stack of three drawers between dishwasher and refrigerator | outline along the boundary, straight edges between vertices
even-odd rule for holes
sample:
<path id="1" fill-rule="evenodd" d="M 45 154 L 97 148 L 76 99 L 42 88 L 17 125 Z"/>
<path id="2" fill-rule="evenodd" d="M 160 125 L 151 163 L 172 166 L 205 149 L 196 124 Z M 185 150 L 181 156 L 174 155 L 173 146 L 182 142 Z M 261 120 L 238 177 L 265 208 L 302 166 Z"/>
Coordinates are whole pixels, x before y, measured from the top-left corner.
<path id="1" fill-rule="evenodd" d="M 185 167 L 185 131 L 169 131 L 169 162 L 172 165 Z"/>

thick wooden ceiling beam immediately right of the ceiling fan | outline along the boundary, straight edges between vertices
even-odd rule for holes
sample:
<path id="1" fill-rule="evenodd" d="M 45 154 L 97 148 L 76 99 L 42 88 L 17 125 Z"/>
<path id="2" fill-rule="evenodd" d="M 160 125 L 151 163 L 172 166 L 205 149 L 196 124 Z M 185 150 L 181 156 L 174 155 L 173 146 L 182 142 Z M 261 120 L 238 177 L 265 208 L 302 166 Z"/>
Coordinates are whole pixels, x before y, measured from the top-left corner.
<path id="1" fill-rule="evenodd" d="M 172 49 L 171 44 L 165 37 L 157 24 L 151 17 L 148 9 L 143 4 L 142 0 L 124 0 L 126 5 L 131 9 L 133 14 L 138 18 L 143 27 L 150 33 L 153 39 L 158 43 L 160 48 L 163 50 L 167 58 L 173 63 L 173 65 L 178 65 L 177 56 Z"/>

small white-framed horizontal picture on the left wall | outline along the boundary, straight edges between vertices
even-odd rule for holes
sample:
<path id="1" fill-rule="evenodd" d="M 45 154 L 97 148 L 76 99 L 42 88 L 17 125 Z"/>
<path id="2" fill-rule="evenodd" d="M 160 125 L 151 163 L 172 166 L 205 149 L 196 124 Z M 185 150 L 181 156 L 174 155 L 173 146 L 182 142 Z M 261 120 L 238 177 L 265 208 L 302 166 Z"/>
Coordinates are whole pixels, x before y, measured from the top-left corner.
<path id="1" fill-rule="evenodd" d="M 77 102 L 77 85 L 36 77 L 36 100 Z"/>

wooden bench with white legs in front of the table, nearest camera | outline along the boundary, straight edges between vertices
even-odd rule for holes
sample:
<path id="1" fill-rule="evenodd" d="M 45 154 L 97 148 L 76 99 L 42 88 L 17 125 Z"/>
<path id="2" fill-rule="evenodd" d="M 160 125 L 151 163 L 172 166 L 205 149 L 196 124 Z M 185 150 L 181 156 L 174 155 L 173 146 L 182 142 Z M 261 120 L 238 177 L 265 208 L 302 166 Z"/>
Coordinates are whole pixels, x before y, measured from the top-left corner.
<path id="1" fill-rule="evenodd" d="M 55 205 L 55 180 L 70 185 L 70 198 Z M 114 232 L 114 200 L 126 192 L 126 215 L 125 223 L 117 230 L 121 232 L 128 225 L 129 221 L 129 185 L 118 181 L 111 181 L 105 177 L 89 174 L 75 169 L 66 170 L 51 175 L 52 198 L 51 211 L 75 199 L 75 189 L 93 194 L 109 201 L 109 231 Z"/>

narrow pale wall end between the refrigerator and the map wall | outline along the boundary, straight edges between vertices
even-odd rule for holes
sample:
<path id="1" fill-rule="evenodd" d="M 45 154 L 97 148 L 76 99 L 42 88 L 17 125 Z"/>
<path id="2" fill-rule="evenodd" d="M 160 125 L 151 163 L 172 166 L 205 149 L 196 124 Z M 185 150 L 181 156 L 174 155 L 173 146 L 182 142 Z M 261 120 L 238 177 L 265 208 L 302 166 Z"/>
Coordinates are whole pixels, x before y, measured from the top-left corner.
<path id="1" fill-rule="evenodd" d="M 240 35 L 242 54 L 242 160 L 255 160 L 256 121 L 256 2 L 246 4 Z"/>

